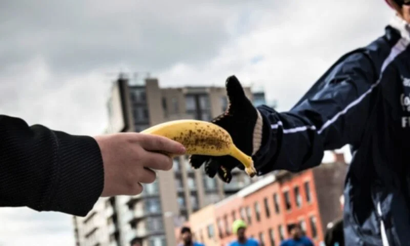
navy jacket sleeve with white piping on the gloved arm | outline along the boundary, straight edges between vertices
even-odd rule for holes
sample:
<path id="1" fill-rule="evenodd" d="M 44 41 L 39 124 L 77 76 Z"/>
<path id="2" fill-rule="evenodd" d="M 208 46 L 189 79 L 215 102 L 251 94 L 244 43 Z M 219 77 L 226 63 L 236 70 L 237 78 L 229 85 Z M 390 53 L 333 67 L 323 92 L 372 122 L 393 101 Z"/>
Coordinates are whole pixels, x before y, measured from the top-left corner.
<path id="1" fill-rule="evenodd" d="M 254 156 L 258 174 L 312 168 L 325 150 L 357 144 L 375 104 L 377 74 L 367 54 L 353 53 L 325 73 L 319 89 L 292 110 L 258 107 L 263 118 L 262 146 Z"/>

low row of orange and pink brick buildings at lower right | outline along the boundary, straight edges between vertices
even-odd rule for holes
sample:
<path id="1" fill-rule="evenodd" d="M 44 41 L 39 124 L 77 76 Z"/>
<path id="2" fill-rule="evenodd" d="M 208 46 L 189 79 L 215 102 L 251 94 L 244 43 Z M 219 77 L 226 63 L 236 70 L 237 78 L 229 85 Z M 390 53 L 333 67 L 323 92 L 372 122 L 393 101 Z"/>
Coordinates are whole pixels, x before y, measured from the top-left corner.
<path id="1" fill-rule="evenodd" d="M 241 218 L 248 223 L 248 236 L 261 245 L 278 246 L 289 237 L 288 226 L 299 223 L 318 246 L 327 223 L 342 215 L 339 199 L 346 172 L 343 155 L 335 154 L 334 161 L 301 173 L 269 174 L 193 213 L 185 225 L 191 227 L 196 240 L 224 246 L 235 239 L 231 226 Z M 178 238 L 179 229 L 174 233 Z"/>

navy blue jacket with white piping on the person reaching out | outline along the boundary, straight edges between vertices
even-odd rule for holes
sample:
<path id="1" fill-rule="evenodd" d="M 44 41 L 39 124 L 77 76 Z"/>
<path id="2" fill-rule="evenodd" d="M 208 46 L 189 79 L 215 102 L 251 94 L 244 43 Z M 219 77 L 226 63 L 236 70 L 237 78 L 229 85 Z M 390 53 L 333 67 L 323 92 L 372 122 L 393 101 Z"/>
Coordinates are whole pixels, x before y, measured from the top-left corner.
<path id="1" fill-rule="evenodd" d="M 258 107 L 270 126 L 255 156 L 259 174 L 313 168 L 325 150 L 351 146 L 345 245 L 410 245 L 409 30 L 395 17 L 383 36 L 337 60 L 290 111 Z"/>

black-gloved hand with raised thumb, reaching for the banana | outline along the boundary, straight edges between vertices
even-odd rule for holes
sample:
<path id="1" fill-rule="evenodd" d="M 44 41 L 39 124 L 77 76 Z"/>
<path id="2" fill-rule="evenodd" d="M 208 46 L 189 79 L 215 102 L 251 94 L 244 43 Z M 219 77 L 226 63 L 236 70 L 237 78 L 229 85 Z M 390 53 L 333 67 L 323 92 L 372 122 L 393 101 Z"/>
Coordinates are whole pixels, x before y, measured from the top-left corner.
<path id="1" fill-rule="evenodd" d="M 245 96 L 239 80 L 235 76 L 226 81 L 228 94 L 227 110 L 212 122 L 231 134 L 234 144 L 245 154 L 252 156 L 261 146 L 262 117 L 251 101 Z M 235 167 L 244 170 L 242 164 L 231 156 L 192 155 L 190 164 L 198 169 L 204 163 L 204 170 L 211 178 L 218 174 L 222 181 L 229 183 L 231 171 Z"/>

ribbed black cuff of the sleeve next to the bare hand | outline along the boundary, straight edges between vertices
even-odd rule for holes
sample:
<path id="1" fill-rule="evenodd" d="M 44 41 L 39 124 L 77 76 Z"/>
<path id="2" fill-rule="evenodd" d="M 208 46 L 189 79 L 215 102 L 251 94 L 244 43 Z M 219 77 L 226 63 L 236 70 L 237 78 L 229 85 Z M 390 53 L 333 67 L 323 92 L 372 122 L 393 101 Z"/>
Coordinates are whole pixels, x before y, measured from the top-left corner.
<path id="1" fill-rule="evenodd" d="M 103 158 L 94 138 L 55 131 L 57 178 L 45 210 L 86 216 L 104 188 Z"/>

